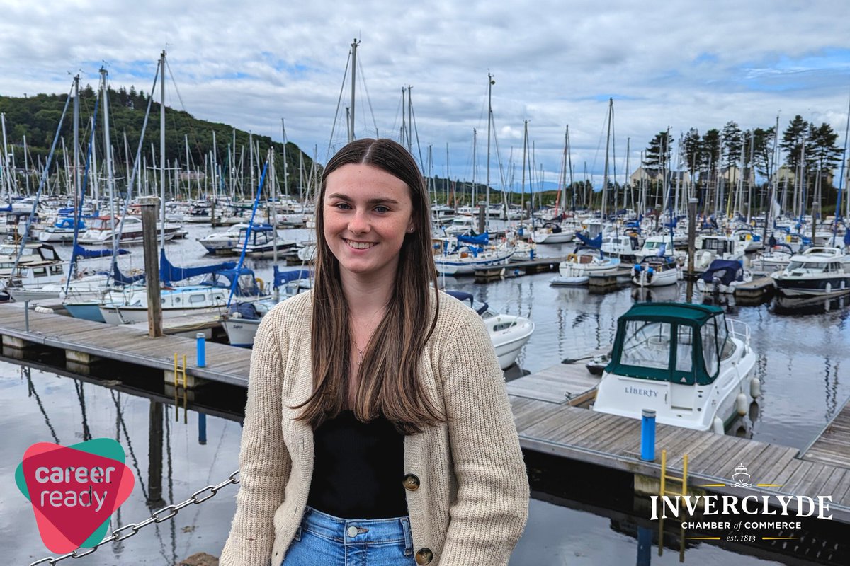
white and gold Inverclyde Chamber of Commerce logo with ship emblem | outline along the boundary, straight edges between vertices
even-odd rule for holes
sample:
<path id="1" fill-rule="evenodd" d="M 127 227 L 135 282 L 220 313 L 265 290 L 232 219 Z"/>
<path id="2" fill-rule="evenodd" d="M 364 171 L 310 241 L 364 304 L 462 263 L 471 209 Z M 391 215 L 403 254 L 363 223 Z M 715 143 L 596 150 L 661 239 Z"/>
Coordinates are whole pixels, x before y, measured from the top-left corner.
<path id="1" fill-rule="evenodd" d="M 730 484 L 701 484 L 699 488 L 732 487 L 738 489 L 779 488 L 779 484 L 751 484 L 751 474 L 743 463 L 732 474 Z M 802 529 L 802 518 L 832 520 L 832 496 L 794 495 L 662 495 L 650 496 L 652 516 L 682 522 L 684 530 L 720 530 L 724 536 L 685 536 L 694 540 L 753 542 L 796 540 L 792 531 Z M 695 518 L 698 517 L 698 518 Z M 756 535 L 779 530 L 781 536 Z M 745 532 L 750 531 L 750 532 Z"/>

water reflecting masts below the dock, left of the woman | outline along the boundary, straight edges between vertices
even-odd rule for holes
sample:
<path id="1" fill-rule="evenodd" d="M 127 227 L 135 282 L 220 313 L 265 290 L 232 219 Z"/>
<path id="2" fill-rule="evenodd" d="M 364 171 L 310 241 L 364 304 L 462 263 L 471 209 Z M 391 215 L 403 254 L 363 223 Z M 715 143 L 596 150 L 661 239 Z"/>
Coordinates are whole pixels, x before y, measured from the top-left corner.
<path id="1" fill-rule="evenodd" d="M 173 406 L 127 395 L 93 378 L 71 378 L 0 361 L 0 426 L 4 441 L 0 474 L 14 477 L 28 446 L 52 440 L 71 446 L 92 438 L 117 440 L 127 454 L 137 486 L 111 518 L 110 530 L 139 523 L 165 502 L 180 502 L 205 485 L 226 479 L 238 467 L 238 422 L 190 411 L 188 424 L 175 423 Z M 150 393 L 156 396 L 156 391 Z M 201 441 L 201 423 L 213 442 Z M 170 521 L 150 524 L 127 541 L 98 549 L 81 564 L 173 564 L 195 552 L 218 552 L 234 511 L 235 487 L 185 508 Z M 35 518 L 14 481 L 0 487 L 4 563 L 26 564 L 51 553 L 38 535 Z M 203 509 L 201 509 L 203 507 Z"/>

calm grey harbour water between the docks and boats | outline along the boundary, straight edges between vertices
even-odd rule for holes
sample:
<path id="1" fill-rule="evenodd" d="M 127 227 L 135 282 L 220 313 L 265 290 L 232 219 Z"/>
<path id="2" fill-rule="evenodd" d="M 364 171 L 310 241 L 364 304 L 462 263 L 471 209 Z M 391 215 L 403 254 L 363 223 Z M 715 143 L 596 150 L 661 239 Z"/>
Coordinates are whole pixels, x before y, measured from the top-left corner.
<path id="1" fill-rule="evenodd" d="M 194 236 L 209 231 L 208 227 L 192 228 Z M 539 247 L 541 255 L 565 254 L 567 246 L 561 248 Z M 133 249 L 138 253 L 134 252 L 130 259 L 122 258 L 122 269 L 140 267 L 141 250 Z M 67 255 L 68 250 L 62 248 L 59 252 Z M 202 256 L 200 244 L 193 240 L 168 244 L 167 253 L 175 265 L 208 261 Z M 249 265 L 260 277 L 270 280 L 270 261 L 251 261 Z M 488 284 L 476 284 L 471 279 L 447 279 L 445 287 L 471 292 L 498 310 L 535 321 L 536 331 L 519 357 L 519 366 L 524 371 L 535 372 L 564 358 L 579 357 L 609 345 L 617 317 L 635 300 L 628 288 L 609 294 L 553 288 L 548 284 L 551 277 L 552 273 L 542 273 Z M 677 300 L 683 293 L 683 288 L 660 289 L 659 293 L 638 299 Z M 844 352 L 848 345 L 846 327 L 850 309 L 837 308 L 812 315 L 779 315 L 770 305 L 727 309 L 729 317 L 750 325 L 752 346 L 758 355 L 757 374 L 762 379 L 763 397 L 757 414 L 753 415 L 752 437 L 796 448 L 807 446 L 850 397 L 850 374 L 847 368 L 842 368 L 847 366 Z M 120 367 L 108 367 L 101 377 L 114 377 L 121 371 Z M 29 503 L 14 485 L 14 469 L 33 443 L 52 441 L 71 445 L 89 436 L 116 438 L 125 447 L 127 464 L 133 468 L 137 485 L 130 499 L 113 516 L 112 526 L 139 522 L 150 513 L 147 505 L 150 476 L 157 474 L 156 462 L 153 466 L 149 462 L 150 412 L 152 404 L 167 401 L 167 397 L 161 395 L 159 384 L 152 386 L 153 393 L 144 395 L 127 388 L 119 391 L 111 385 L 21 367 L 11 361 L 0 362 L 3 391 L 0 427 L 4 432 L 0 463 L 0 478 L 3 478 L 0 547 L 5 551 L 4 563 L 26 564 L 50 554 L 37 534 Z M 218 395 L 229 399 L 229 406 L 207 409 L 211 414 L 206 417 L 190 407 L 185 415 L 186 423 L 182 409 L 175 420 L 174 407 L 164 403 L 163 457 L 159 467 L 162 496 L 167 502 L 183 501 L 193 491 L 226 479 L 237 468 L 241 435 L 238 412 L 244 404 L 240 395 L 244 399 L 244 394 L 238 392 Z M 201 418 L 206 419 L 205 444 L 199 441 Z M 590 497 L 592 501 L 583 501 L 581 494 L 553 495 L 559 488 L 542 485 L 547 483 L 547 478 L 563 479 L 562 484 L 587 481 L 588 485 L 583 487 L 585 494 L 603 494 L 610 484 L 579 474 L 574 466 L 563 470 L 549 469 L 546 462 L 534 466 L 532 479 L 536 475 L 543 479 L 533 481 L 536 496 L 530 506 L 529 525 L 513 554 L 512 564 L 642 564 L 649 563 L 648 557 L 656 564 L 678 563 L 677 548 L 666 548 L 659 557 L 657 541 L 651 543 L 651 552 L 639 547 L 638 531 L 643 517 L 629 511 L 631 496 L 626 494 L 621 497 L 624 501 L 608 503 L 601 501 L 602 495 Z M 101 547 L 75 563 L 171 564 L 194 552 L 218 555 L 229 530 L 235 492 L 235 486 L 228 486 L 210 501 L 187 507 L 175 520 L 150 525 L 139 535 Z M 689 546 L 684 555 L 685 563 L 692 564 L 775 563 L 772 560 L 786 559 L 791 560 L 758 548 L 707 543 Z"/>

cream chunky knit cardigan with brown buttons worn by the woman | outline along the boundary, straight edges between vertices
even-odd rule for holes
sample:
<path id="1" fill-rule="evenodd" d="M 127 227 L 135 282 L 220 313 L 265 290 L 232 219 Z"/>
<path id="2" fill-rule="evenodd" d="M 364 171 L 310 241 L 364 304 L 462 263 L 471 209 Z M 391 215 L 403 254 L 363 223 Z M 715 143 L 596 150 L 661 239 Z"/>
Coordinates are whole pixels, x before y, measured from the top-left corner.
<path id="1" fill-rule="evenodd" d="M 276 305 L 259 326 L 241 482 L 222 566 L 279 566 L 301 524 L 313 475 L 313 430 L 289 407 L 313 388 L 312 311 L 312 293 L 298 294 Z M 529 484 L 504 377 L 481 317 L 440 294 L 437 326 L 419 370 L 448 423 L 405 436 L 405 474 L 420 480 L 419 489 L 406 491 L 414 553 L 430 549 L 432 566 L 507 564 L 528 518 Z M 351 489 L 357 489 L 354 479 Z"/>

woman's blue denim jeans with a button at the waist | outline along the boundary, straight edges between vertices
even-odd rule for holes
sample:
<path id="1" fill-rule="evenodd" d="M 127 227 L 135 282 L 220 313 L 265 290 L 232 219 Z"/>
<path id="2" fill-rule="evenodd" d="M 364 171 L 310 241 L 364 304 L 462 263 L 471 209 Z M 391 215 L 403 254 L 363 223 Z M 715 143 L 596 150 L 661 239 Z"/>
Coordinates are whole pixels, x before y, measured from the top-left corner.
<path id="1" fill-rule="evenodd" d="M 416 565 L 407 517 L 345 519 L 304 510 L 280 566 Z"/>

